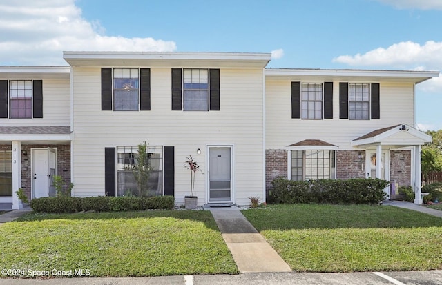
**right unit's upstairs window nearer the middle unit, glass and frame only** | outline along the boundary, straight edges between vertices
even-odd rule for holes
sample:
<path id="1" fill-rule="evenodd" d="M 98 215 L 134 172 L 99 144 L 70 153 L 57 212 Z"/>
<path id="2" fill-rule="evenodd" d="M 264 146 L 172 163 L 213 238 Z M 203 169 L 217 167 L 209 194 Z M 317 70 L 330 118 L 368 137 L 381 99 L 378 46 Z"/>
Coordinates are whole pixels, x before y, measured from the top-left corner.
<path id="1" fill-rule="evenodd" d="M 301 83 L 301 119 L 323 119 L 323 83 Z"/>

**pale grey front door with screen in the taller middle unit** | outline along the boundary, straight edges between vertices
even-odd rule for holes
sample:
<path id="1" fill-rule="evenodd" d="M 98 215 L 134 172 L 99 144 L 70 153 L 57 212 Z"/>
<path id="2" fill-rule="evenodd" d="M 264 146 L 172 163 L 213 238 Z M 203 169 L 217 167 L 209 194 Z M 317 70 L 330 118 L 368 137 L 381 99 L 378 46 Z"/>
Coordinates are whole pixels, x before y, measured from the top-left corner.
<path id="1" fill-rule="evenodd" d="M 231 146 L 209 146 L 209 203 L 232 202 Z"/>

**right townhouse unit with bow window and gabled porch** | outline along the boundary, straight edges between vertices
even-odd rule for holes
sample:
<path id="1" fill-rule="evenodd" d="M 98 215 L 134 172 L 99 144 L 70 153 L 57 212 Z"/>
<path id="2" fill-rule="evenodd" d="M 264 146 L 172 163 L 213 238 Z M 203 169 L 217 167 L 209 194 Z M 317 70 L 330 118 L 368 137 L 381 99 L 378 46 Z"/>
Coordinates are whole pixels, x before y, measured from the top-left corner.
<path id="1" fill-rule="evenodd" d="M 439 72 L 267 69 L 266 184 L 377 177 L 412 186 L 421 203 L 415 86 Z M 396 189 L 397 191 L 397 189 Z M 385 189 L 387 195 L 390 189 Z"/>

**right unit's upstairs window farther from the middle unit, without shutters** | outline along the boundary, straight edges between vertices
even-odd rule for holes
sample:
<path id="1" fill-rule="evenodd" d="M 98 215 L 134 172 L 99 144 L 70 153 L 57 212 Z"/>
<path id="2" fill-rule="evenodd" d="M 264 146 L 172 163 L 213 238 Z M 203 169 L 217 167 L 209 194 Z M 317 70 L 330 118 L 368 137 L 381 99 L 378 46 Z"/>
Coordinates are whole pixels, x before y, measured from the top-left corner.
<path id="1" fill-rule="evenodd" d="M 369 83 L 348 84 L 348 112 L 349 119 L 370 119 L 370 88 Z"/>

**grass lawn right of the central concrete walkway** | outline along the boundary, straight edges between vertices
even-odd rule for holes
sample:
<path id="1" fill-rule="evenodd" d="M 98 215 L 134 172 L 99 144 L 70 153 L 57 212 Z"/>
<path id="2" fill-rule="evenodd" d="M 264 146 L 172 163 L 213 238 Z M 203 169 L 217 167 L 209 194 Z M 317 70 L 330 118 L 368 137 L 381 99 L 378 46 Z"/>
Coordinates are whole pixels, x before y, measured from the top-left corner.
<path id="1" fill-rule="evenodd" d="M 442 269 L 439 217 L 359 205 L 271 205 L 242 213 L 294 271 Z"/>

